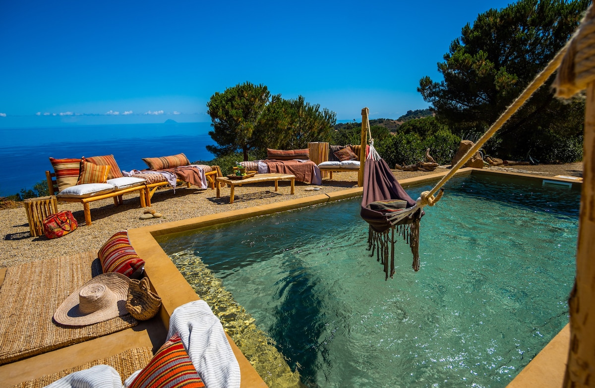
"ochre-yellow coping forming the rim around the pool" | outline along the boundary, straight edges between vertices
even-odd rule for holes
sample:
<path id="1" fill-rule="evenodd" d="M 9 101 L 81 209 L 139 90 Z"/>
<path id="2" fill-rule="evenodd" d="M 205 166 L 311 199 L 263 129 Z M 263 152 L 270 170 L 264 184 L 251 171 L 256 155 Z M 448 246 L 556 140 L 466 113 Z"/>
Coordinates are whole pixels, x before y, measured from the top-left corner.
<path id="1" fill-rule="evenodd" d="M 400 180 L 403 187 L 438 181 L 446 175 L 448 171 L 442 173 L 430 174 L 411 179 Z M 502 176 L 516 176 L 527 180 L 543 181 L 558 180 L 560 182 L 570 182 L 574 185 L 581 185 L 582 182 L 569 179 L 559 179 L 553 177 L 536 176 L 532 174 L 510 173 L 508 171 L 482 170 L 477 168 L 464 168 L 455 174 L 463 176 L 466 174 L 492 174 Z M 580 186 L 577 186 L 580 187 Z M 339 192 L 325 193 L 309 196 L 305 198 L 292 199 L 290 201 L 278 202 L 274 204 L 253 206 L 252 208 L 237 209 L 218 214 L 204 215 L 201 217 L 189 218 L 187 220 L 174 221 L 171 223 L 155 224 L 151 226 L 131 229 L 128 231 L 131 244 L 136 249 L 137 254 L 142 257 L 145 264 L 145 271 L 156 292 L 162 298 L 161 319 L 165 326 L 168 326 L 171 312 L 184 303 L 198 299 L 198 296 L 179 273 L 176 266 L 161 246 L 156 242 L 156 236 L 165 234 L 179 233 L 182 231 L 199 229 L 202 227 L 213 226 L 215 224 L 229 223 L 257 215 L 273 214 L 276 212 L 287 211 L 304 206 L 324 204 L 326 202 L 337 201 L 339 199 L 353 198 L 361 196 L 362 187 L 342 190 Z M 509 384 L 511 387 L 521 386 L 540 386 L 540 387 L 559 387 L 563 381 L 563 373 L 566 365 L 566 356 L 568 354 L 568 331 L 566 326 L 538 355 L 524 368 L 521 373 Z M 231 340 L 230 340 L 231 342 Z M 239 352 L 234 347 L 236 354 Z M 241 352 L 239 352 L 241 355 Z M 241 359 L 240 359 L 241 358 Z M 242 369 L 248 369 L 245 364 L 248 362 L 245 357 L 240 356 L 239 361 Z M 249 364 L 248 364 L 249 365 Z M 543 371 L 547 370 L 547 373 Z M 529 385 L 527 385 L 529 384 Z"/>

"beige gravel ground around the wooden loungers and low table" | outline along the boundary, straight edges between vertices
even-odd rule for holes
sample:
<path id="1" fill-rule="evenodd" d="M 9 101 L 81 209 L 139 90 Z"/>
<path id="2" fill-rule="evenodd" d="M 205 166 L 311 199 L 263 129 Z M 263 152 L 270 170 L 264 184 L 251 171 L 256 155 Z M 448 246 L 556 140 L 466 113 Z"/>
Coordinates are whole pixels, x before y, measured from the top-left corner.
<path id="1" fill-rule="evenodd" d="M 568 175 L 582 176 L 583 164 L 559 165 L 523 165 L 497 170 L 516 171 L 543 176 Z M 437 169 L 436 172 L 440 171 Z M 394 171 L 397 179 L 407 179 L 432 173 L 420 171 Z M 274 191 L 272 182 L 236 187 L 234 203 L 229 204 L 229 189 L 221 189 L 221 198 L 215 198 L 215 190 L 200 190 L 196 187 L 187 189 L 185 186 L 176 189 L 158 190 L 153 196 L 152 208 L 163 214 L 161 218 L 139 220 L 143 214 L 137 195 L 124 196 L 124 204 L 114 206 L 113 199 L 92 202 L 91 226 L 84 225 L 82 204 L 58 203 L 58 210 L 71 210 L 79 222 L 79 228 L 60 239 L 49 240 L 45 236 L 32 238 L 24 208 L 0 210 L 0 267 L 8 267 L 22 262 L 42 260 L 56 256 L 68 255 L 73 252 L 98 250 L 115 232 L 133 229 L 155 223 L 184 220 L 200 215 L 215 214 L 233 209 L 248 208 L 250 206 L 271 204 L 289 199 L 303 198 L 321 193 L 335 192 L 357 186 L 357 173 L 345 172 L 333 174 L 333 180 L 322 181 L 320 190 L 306 191 L 311 185 L 296 182 L 295 195 L 289 194 L 289 182 L 279 182 L 278 192 Z"/>

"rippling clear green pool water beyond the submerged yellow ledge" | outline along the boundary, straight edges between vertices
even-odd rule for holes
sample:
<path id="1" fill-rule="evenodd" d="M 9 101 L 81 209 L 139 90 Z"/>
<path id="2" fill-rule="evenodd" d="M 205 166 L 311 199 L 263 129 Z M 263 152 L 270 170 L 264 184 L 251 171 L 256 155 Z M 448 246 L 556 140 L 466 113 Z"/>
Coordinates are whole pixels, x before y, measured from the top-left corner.
<path id="1" fill-rule="evenodd" d="M 504 387 L 568 323 L 577 190 L 452 179 L 425 208 L 421 269 L 399 241 L 388 281 L 360 201 L 159 242 L 200 256 L 308 387 Z"/>

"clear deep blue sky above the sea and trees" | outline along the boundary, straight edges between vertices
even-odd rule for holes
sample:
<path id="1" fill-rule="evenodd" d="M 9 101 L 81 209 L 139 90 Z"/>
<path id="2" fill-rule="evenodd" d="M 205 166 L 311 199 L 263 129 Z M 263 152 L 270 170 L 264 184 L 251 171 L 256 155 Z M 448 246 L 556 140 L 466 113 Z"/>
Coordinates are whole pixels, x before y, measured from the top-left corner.
<path id="1" fill-rule="evenodd" d="M 210 121 L 246 81 L 337 119 L 428 104 L 419 79 L 509 1 L 1 1 L 0 128 Z"/>

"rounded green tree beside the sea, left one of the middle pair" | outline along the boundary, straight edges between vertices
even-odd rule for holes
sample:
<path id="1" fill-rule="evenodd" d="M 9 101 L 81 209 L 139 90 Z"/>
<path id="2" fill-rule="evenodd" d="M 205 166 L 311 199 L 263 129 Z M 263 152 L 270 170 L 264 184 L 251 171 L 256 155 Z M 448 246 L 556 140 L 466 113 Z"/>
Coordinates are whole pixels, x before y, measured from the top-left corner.
<path id="1" fill-rule="evenodd" d="M 267 86 L 249 82 L 212 95 L 206 104 L 213 127 L 209 136 L 218 146 L 209 145 L 206 149 L 215 157 L 241 151 L 244 160 L 248 160 L 248 151 L 262 146 L 262 136 L 258 134 L 270 95 Z"/>

